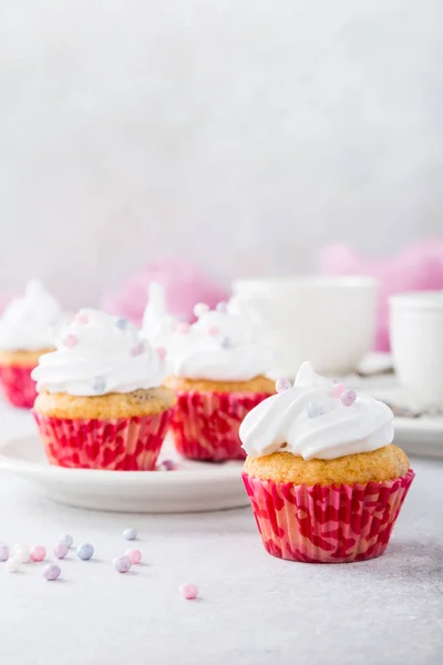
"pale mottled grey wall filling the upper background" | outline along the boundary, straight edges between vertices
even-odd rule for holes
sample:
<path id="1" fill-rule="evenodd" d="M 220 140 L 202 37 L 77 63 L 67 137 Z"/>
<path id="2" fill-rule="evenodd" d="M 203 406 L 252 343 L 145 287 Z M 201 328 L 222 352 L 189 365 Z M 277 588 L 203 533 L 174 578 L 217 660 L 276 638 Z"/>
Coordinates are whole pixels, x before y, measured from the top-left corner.
<path id="1" fill-rule="evenodd" d="M 1 0 L 0 287 L 443 233 L 440 0 Z"/>

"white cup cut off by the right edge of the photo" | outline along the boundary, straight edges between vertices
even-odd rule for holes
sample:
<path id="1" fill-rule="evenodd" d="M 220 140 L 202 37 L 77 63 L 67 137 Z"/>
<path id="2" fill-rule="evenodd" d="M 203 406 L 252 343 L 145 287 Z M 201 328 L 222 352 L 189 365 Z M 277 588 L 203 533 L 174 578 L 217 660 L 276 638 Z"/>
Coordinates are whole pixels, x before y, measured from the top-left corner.
<path id="1" fill-rule="evenodd" d="M 389 304 L 400 385 L 419 407 L 443 409 L 443 291 L 401 294 Z"/>

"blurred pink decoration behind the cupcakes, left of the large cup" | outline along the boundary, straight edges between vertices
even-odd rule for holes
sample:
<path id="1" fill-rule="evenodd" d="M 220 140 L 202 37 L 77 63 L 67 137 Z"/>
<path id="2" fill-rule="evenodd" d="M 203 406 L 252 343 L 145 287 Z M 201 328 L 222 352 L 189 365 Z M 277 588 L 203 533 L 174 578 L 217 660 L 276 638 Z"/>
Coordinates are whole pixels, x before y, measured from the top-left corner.
<path id="1" fill-rule="evenodd" d="M 165 288 L 166 307 L 174 316 L 194 319 L 196 303 L 215 307 L 226 300 L 229 291 L 218 286 L 196 265 L 185 260 L 165 259 L 147 264 L 127 278 L 115 293 L 105 294 L 102 307 L 141 326 L 147 301 L 147 285 L 158 282 Z"/>

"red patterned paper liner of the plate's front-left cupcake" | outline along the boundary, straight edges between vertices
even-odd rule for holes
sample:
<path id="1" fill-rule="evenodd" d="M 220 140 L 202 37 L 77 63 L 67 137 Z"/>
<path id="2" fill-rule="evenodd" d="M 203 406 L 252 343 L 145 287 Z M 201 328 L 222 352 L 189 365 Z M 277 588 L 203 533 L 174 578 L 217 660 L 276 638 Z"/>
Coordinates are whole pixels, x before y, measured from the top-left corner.
<path id="1" fill-rule="evenodd" d="M 51 464 L 107 471 L 152 471 L 172 409 L 116 419 L 52 418 L 33 411 Z"/>

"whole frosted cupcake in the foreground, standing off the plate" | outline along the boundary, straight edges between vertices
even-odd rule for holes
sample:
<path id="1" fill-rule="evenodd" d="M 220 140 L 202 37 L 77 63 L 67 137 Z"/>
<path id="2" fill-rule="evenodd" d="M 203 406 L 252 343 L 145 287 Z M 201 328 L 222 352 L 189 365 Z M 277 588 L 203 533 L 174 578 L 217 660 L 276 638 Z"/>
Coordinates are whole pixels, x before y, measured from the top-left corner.
<path id="1" fill-rule="evenodd" d="M 309 362 L 293 386 L 247 415 L 244 482 L 269 554 L 309 563 L 380 556 L 414 478 L 392 444 L 391 409 L 319 377 Z"/>

